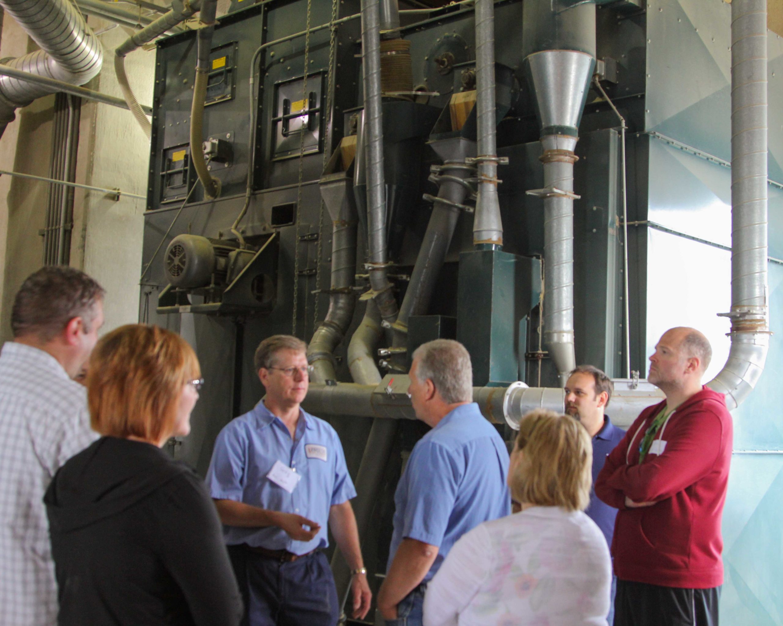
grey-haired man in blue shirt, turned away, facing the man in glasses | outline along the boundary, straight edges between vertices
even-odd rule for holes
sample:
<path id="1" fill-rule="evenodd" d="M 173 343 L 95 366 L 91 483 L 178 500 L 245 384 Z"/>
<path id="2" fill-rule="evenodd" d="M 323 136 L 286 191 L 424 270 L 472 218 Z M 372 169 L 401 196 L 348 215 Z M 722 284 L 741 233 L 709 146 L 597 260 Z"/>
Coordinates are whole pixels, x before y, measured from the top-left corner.
<path id="1" fill-rule="evenodd" d="M 508 451 L 473 399 L 471 356 L 453 340 L 413 352 L 408 388 L 432 427 L 414 446 L 395 494 L 394 533 L 378 609 L 388 626 L 421 626 L 424 589 L 457 539 L 511 513 Z"/>

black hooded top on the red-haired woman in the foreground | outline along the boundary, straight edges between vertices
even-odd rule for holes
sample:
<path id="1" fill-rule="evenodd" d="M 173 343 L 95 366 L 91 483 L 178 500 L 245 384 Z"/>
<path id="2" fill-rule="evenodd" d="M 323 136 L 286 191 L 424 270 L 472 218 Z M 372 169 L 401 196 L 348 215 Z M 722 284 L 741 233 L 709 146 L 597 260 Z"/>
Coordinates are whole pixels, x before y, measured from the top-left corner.
<path id="1" fill-rule="evenodd" d="M 152 444 L 103 437 L 44 498 L 60 626 L 233 626 L 242 603 L 203 482 Z"/>

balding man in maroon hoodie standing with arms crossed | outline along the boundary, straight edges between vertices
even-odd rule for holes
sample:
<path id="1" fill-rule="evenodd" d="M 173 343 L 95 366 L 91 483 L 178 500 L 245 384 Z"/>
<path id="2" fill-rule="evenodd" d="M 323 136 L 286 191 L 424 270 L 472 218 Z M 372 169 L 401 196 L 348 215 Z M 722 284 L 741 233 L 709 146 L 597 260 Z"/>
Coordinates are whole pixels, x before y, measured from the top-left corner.
<path id="1" fill-rule="evenodd" d="M 698 330 L 663 333 L 648 380 L 666 400 L 641 412 L 597 477 L 598 498 L 619 509 L 615 626 L 718 624 L 732 428 L 723 395 L 702 386 L 711 356 Z"/>

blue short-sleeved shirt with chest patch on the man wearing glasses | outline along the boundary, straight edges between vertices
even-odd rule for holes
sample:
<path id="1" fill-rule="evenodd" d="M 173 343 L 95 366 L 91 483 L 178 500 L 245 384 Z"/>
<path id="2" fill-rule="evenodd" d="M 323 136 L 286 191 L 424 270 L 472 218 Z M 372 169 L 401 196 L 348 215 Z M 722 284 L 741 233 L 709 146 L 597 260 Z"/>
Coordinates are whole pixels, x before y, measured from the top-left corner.
<path id="1" fill-rule="evenodd" d="M 324 448 L 326 460 L 323 460 Z M 301 474 L 292 493 L 267 477 L 276 461 Z M 228 545 L 246 543 L 294 554 L 327 547 L 330 506 L 356 495 L 334 428 L 300 409 L 294 441 L 291 441 L 287 426 L 269 412 L 263 401 L 220 431 L 206 483 L 212 498 L 298 513 L 318 523 L 320 531 L 311 541 L 294 541 L 278 527 L 223 526 Z"/>

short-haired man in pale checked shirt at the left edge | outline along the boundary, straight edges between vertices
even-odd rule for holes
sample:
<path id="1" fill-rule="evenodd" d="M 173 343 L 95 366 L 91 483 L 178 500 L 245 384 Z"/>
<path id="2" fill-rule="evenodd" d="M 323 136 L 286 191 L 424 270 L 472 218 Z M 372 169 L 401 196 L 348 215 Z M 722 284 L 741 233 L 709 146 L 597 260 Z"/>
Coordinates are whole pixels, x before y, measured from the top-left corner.
<path id="1" fill-rule="evenodd" d="M 57 621 L 42 498 L 54 473 L 97 438 L 75 383 L 103 324 L 103 288 L 84 272 L 46 267 L 13 304 L 0 351 L 0 613 L 3 626 Z"/>

